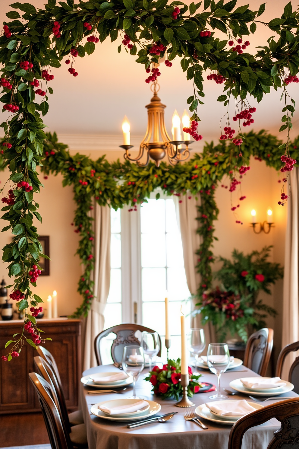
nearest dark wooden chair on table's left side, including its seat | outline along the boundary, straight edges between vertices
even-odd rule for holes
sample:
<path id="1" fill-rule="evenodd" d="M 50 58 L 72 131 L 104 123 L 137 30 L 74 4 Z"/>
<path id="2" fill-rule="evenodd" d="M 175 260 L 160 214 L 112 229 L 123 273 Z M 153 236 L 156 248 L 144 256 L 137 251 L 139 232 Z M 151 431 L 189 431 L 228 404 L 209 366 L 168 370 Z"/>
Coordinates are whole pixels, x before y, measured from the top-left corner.
<path id="1" fill-rule="evenodd" d="M 82 424 L 72 427 L 70 434 L 65 430 L 61 415 L 53 399 L 53 390 L 50 384 L 37 373 L 29 373 L 29 378 L 35 388 L 42 409 L 51 448 L 88 449 L 87 436 L 82 432 Z"/>

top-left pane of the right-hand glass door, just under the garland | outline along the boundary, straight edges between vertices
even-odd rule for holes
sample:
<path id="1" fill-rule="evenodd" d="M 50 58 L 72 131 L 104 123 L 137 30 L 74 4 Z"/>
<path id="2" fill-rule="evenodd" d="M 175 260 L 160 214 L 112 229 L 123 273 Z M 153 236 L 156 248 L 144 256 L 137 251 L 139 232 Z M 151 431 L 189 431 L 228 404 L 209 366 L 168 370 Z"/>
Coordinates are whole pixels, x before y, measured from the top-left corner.
<path id="1" fill-rule="evenodd" d="M 165 232 L 165 200 L 149 199 L 140 207 L 141 232 Z"/>

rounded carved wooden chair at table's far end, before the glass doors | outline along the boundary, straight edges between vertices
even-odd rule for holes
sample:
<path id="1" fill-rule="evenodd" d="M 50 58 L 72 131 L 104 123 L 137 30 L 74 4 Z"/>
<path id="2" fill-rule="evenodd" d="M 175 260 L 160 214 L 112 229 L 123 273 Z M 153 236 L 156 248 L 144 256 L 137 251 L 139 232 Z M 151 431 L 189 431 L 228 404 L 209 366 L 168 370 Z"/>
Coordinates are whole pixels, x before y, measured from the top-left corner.
<path id="1" fill-rule="evenodd" d="M 111 332 L 113 334 L 116 334 L 116 339 L 113 340 L 112 346 L 111 346 L 111 356 L 114 363 L 120 363 L 122 360 L 122 354 L 124 352 L 125 346 L 132 346 L 132 345 L 140 345 L 140 341 L 137 337 L 135 337 L 135 332 L 139 330 L 140 332 L 155 332 L 154 330 L 150 329 L 149 327 L 141 326 L 140 324 L 133 324 L 133 323 L 124 323 L 119 324 L 117 326 L 109 327 L 108 329 L 103 330 L 100 332 L 99 335 L 95 337 L 95 357 L 98 362 L 98 365 L 102 365 L 102 358 L 100 354 L 100 341 L 104 337 L 107 337 Z M 159 334 L 158 334 L 159 335 Z M 159 344 L 160 349 L 158 352 L 158 357 L 161 356 L 161 339 L 159 335 Z"/>

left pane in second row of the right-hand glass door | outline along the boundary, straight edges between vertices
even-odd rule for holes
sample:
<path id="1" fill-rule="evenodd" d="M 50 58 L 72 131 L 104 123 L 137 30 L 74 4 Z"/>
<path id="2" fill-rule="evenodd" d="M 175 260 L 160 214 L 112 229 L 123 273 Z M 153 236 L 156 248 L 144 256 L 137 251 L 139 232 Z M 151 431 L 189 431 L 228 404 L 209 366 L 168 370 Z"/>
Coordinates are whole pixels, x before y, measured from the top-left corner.
<path id="1" fill-rule="evenodd" d="M 165 267 L 165 233 L 141 234 L 141 266 Z"/>

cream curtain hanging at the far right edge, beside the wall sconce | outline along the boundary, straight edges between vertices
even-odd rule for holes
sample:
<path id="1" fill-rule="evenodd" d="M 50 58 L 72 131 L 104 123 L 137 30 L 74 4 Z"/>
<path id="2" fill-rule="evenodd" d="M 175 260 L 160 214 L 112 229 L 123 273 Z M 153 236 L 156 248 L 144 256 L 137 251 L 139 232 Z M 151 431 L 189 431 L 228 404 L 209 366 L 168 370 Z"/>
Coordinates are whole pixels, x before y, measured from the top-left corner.
<path id="1" fill-rule="evenodd" d="M 282 347 L 299 340 L 298 233 L 299 169 L 290 173 L 290 198 L 287 201 L 285 270 L 283 278 Z M 288 379 L 296 354 L 291 352 L 283 366 L 283 379 Z"/>

